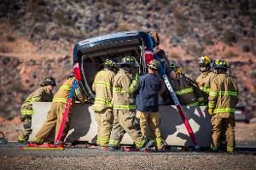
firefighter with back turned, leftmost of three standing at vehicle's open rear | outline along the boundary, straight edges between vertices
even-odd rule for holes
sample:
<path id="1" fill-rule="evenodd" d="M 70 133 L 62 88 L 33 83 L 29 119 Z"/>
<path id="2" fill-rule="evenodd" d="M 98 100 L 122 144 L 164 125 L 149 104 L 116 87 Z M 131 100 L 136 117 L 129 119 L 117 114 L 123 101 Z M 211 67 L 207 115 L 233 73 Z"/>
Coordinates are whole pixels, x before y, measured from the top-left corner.
<path id="1" fill-rule="evenodd" d="M 98 125 L 97 144 L 102 150 L 105 150 L 108 147 L 113 127 L 112 89 L 116 63 L 111 59 L 106 59 L 103 65 L 104 69 L 96 74 L 92 84 L 92 89 L 96 92 L 92 109 L 96 113 Z"/>

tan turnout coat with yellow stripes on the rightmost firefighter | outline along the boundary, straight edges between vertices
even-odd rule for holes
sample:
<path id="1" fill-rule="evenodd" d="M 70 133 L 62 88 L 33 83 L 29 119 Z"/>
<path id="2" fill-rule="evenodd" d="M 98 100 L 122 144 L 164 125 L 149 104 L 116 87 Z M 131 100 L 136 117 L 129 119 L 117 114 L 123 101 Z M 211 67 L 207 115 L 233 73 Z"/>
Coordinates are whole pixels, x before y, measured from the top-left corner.
<path id="1" fill-rule="evenodd" d="M 213 113 L 235 113 L 238 102 L 236 80 L 225 73 L 219 73 L 211 83 L 208 107 Z"/>

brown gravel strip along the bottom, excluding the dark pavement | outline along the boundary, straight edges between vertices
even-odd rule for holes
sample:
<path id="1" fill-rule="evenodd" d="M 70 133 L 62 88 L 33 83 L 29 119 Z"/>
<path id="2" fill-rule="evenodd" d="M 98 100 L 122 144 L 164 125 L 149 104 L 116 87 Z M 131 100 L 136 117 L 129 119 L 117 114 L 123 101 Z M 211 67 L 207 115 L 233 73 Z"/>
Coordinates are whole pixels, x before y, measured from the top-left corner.
<path id="1" fill-rule="evenodd" d="M 0 169 L 256 169 L 255 155 L 224 153 L 0 156 L 0 160 Z"/>

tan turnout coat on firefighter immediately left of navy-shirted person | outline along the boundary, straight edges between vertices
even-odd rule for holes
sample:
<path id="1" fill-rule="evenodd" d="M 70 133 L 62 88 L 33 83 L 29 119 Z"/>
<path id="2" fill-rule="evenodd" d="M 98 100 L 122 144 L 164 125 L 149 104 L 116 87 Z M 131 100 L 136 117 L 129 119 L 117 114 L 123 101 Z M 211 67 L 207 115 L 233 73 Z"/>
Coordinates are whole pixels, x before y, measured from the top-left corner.
<path id="1" fill-rule="evenodd" d="M 133 80 L 131 73 L 119 69 L 113 80 L 113 109 L 135 110 L 135 99 L 133 93 L 137 88 L 138 81 Z"/>

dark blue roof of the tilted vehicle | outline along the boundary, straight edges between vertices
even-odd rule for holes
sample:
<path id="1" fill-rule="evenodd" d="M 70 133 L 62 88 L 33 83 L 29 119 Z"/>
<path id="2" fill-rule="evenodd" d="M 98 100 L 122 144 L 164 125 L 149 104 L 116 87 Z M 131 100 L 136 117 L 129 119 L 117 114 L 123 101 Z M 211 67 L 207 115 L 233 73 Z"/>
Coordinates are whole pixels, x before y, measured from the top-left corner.
<path id="1" fill-rule="evenodd" d="M 123 31 L 112 33 L 99 37 L 92 37 L 89 39 L 77 42 L 73 49 L 73 61 L 77 62 L 79 58 L 88 53 L 91 49 L 108 44 L 108 48 L 116 48 L 120 45 L 138 46 L 144 44 L 148 49 L 153 50 L 153 42 L 150 36 L 145 31 Z"/>

